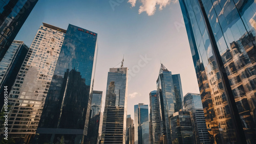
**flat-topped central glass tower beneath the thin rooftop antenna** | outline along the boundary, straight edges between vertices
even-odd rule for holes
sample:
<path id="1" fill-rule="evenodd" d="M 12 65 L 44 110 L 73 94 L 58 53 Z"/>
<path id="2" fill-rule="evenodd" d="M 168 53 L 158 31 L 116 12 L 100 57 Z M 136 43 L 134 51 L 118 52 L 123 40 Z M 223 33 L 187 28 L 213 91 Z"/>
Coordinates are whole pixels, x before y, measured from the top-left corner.
<path id="1" fill-rule="evenodd" d="M 106 85 L 101 143 L 125 143 L 127 68 L 111 68 Z"/>

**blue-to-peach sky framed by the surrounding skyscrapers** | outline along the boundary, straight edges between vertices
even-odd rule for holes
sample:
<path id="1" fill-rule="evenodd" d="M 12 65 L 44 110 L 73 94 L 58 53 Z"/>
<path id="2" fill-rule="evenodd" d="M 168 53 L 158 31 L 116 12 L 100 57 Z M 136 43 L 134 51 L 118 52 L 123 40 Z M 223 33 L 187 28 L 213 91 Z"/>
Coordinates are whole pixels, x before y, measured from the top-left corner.
<path id="1" fill-rule="evenodd" d="M 129 68 L 127 114 L 150 105 L 160 64 L 180 74 L 183 96 L 199 93 L 179 2 L 175 0 L 38 1 L 15 40 L 30 46 L 42 22 L 66 29 L 73 24 L 98 34 L 94 90 L 103 91 L 110 68 Z"/>

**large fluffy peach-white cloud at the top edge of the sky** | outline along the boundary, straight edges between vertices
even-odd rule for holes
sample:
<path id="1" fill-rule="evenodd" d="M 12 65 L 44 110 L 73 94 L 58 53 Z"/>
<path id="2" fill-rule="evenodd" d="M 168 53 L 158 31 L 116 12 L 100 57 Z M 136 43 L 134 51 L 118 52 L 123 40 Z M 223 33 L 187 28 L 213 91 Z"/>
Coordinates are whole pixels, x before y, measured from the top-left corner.
<path id="1" fill-rule="evenodd" d="M 130 3 L 132 7 L 135 7 L 137 0 L 129 0 L 127 3 Z M 142 4 L 139 8 L 139 14 L 146 12 L 147 15 L 154 15 L 156 12 L 156 6 L 159 5 L 159 11 L 165 8 L 168 4 L 177 3 L 178 0 L 138 0 Z"/>

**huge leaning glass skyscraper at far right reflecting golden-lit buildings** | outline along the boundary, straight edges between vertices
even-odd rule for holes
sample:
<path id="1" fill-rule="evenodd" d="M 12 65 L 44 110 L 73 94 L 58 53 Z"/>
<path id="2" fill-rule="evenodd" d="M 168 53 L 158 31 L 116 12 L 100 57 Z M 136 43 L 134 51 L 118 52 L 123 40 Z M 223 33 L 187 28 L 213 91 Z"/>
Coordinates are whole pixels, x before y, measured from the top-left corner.
<path id="1" fill-rule="evenodd" d="M 180 0 L 211 143 L 256 143 L 256 3 Z"/>

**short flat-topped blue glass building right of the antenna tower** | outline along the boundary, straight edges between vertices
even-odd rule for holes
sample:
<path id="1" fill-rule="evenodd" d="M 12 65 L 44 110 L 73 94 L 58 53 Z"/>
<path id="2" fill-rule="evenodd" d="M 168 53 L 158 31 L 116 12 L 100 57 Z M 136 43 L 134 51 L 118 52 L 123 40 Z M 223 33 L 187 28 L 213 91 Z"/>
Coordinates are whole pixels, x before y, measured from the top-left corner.
<path id="1" fill-rule="evenodd" d="M 142 143 L 142 124 L 148 121 L 148 105 L 134 105 L 134 142 Z M 149 132 L 148 132 L 149 133 Z"/>

